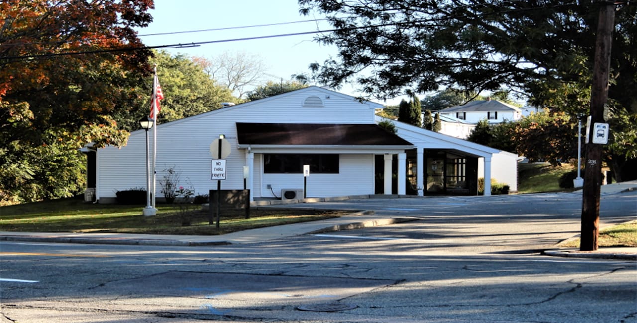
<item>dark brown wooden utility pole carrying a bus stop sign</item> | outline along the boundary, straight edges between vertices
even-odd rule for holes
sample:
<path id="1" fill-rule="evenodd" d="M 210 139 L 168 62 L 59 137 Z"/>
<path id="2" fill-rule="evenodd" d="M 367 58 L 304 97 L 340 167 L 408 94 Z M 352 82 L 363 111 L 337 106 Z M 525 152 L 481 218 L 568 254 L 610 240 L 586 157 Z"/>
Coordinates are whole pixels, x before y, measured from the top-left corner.
<path id="1" fill-rule="evenodd" d="M 589 143 L 586 145 L 584 186 L 582 192 L 582 233 L 580 236 L 580 250 L 582 251 L 594 251 L 598 249 L 602 145 L 592 143 L 595 131 L 595 127 L 592 127 L 592 125 L 595 124 L 595 122 L 605 122 L 604 104 L 608 99 L 610 49 L 614 25 L 615 3 L 601 2 L 599 6 L 599 22 L 595 43 L 593 82 L 590 89 L 590 129 L 589 133 L 587 133 Z"/>

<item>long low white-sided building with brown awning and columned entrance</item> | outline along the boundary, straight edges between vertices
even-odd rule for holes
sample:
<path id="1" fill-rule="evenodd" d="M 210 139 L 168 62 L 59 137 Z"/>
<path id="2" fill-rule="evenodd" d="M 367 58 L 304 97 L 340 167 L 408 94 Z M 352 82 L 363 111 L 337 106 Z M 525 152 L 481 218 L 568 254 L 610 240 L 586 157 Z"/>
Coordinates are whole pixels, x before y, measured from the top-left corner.
<path id="1" fill-rule="evenodd" d="M 306 87 L 157 126 L 157 180 L 164 169 L 181 172 L 178 185 L 196 194 L 217 189 L 211 180 L 210 144 L 220 134 L 231 145 L 222 190 L 247 187 L 254 199 L 281 198 L 303 190 L 303 165 L 310 165 L 307 197 L 361 194 L 476 194 L 478 177 L 517 190 L 515 155 L 417 127 L 396 124 L 397 134 L 376 124 L 382 104 Z M 152 136 L 151 136 L 152 137 Z M 125 147 L 98 148 L 94 159 L 95 198 L 115 200 L 118 190 L 145 187 L 143 130 Z M 152 138 L 151 138 L 152 147 Z M 392 176 L 394 175 L 394 176 Z M 392 180 L 393 178 L 393 180 Z M 162 199 L 157 185 L 157 198 Z"/>

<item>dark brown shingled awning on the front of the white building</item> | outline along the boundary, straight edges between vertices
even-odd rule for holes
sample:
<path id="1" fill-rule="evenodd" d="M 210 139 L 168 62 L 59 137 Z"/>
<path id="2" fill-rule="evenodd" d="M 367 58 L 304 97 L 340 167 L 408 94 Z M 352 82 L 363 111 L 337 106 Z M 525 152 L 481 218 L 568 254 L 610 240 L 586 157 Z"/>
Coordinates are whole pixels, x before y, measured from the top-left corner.
<path id="1" fill-rule="evenodd" d="M 413 146 L 376 124 L 237 123 L 239 145 Z"/>

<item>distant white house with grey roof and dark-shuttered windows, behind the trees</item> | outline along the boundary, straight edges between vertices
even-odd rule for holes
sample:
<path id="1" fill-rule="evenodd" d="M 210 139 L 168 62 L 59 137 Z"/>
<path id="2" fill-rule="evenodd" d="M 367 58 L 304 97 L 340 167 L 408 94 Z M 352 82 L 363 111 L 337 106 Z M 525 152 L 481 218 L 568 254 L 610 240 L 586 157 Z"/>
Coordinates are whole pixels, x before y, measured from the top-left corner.
<path id="1" fill-rule="evenodd" d="M 440 115 L 465 120 L 471 124 L 477 124 L 484 119 L 487 119 L 489 123 L 499 124 L 505 121 L 519 120 L 522 117 L 522 111 L 517 106 L 487 99 L 446 108 L 440 111 Z"/>

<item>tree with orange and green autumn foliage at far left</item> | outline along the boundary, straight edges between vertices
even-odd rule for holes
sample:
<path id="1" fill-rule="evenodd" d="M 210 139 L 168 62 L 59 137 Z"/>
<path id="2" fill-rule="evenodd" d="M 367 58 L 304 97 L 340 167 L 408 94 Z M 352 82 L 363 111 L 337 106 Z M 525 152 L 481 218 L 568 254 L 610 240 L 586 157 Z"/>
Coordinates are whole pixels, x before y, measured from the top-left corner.
<path id="1" fill-rule="evenodd" d="M 110 115 L 138 96 L 134 75 L 149 71 L 150 52 L 131 49 L 152 7 L 0 1 L 0 199 L 68 196 L 83 181 L 77 148 L 125 142 Z"/>

